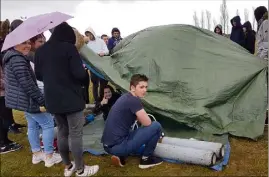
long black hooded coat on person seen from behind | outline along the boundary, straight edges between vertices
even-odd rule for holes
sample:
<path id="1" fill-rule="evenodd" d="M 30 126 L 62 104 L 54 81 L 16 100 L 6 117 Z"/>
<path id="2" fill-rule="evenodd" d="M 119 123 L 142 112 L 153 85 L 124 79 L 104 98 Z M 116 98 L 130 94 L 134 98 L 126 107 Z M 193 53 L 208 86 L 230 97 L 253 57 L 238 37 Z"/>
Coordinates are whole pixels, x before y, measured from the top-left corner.
<path id="1" fill-rule="evenodd" d="M 44 82 L 46 108 L 52 114 L 69 114 L 85 108 L 82 85 L 88 74 L 75 42 L 72 27 L 62 23 L 35 53 L 36 77 Z"/>

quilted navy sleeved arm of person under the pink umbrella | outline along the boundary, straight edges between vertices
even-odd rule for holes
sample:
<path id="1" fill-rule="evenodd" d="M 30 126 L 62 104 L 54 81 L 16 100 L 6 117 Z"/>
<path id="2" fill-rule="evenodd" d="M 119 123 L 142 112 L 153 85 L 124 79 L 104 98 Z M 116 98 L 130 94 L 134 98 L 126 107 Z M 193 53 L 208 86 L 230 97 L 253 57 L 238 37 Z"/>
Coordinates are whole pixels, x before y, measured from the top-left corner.
<path id="1" fill-rule="evenodd" d="M 22 56 L 15 56 L 10 60 L 12 72 L 25 93 L 36 101 L 39 106 L 44 106 L 44 96 L 31 76 L 26 59 L 22 59 L 21 57 Z"/>

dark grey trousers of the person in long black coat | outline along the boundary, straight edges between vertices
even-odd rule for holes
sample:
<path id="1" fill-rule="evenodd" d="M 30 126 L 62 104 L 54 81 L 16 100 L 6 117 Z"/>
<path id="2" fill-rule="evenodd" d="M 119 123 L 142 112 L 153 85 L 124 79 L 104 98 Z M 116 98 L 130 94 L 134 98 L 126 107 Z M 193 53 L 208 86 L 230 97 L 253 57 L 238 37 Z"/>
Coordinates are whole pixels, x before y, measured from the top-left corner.
<path id="1" fill-rule="evenodd" d="M 58 149 L 65 165 L 71 163 L 69 158 L 69 149 L 75 160 L 76 169 L 83 169 L 83 148 L 82 135 L 84 117 L 83 112 L 76 112 L 73 114 L 55 115 L 58 126 Z M 70 138 L 71 147 L 69 148 L 68 137 Z"/>

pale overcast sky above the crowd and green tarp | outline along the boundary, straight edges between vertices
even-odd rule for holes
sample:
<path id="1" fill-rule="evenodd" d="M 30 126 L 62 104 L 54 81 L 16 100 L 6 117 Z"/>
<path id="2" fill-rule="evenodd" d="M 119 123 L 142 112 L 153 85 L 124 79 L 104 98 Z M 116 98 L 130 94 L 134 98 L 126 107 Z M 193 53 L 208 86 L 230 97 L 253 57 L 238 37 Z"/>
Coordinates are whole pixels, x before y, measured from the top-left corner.
<path id="1" fill-rule="evenodd" d="M 68 22 L 80 32 L 91 26 L 98 35 L 111 33 L 118 27 L 127 36 L 149 26 L 163 24 L 194 24 L 193 13 L 209 10 L 213 19 L 219 23 L 221 0 L 173 0 L 173 1 L 109 1 L 109 0 L 1 0 L 1 20 L 30 17 L 40 13 L 60 11 L 74 16 Z M 249 11 L 249 21 L 253 21 L 252 8 L 268 6 L 267 0 L 228 0 L 229 16 L 236 15 L 237 9 L 244 19 L 244 9 Z"/>

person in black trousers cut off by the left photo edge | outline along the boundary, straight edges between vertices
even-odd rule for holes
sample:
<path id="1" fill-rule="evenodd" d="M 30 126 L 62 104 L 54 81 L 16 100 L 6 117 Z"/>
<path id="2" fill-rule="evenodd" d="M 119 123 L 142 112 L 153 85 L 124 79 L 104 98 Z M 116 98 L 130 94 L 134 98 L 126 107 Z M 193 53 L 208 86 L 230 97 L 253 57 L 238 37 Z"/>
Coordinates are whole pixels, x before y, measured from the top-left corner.
<path id="1" fill-rule="evenodd" d="M 8 20 L 1 21 L 0 27 L 0 50 L 5 40 L 6 35 L 9 33 L 10 23 Z M 4 86 L 4 72 L 2 59 L 4 52 L 0 54 L 0 154 L 9 153 L 19 150 L 22 146 L 16 142 L 9 140 L 8 128 L 9 122 L 13 119 L 12 109 L 7 108 L 5 105 L 5 86 Z"/>

